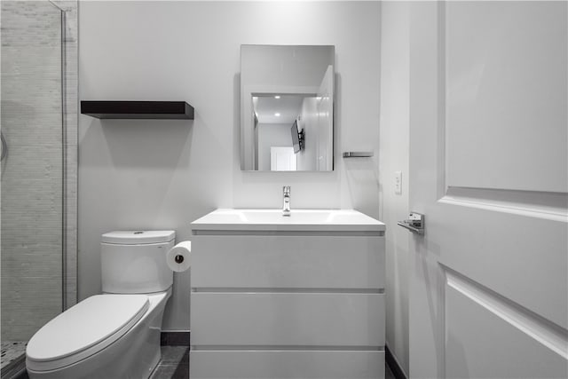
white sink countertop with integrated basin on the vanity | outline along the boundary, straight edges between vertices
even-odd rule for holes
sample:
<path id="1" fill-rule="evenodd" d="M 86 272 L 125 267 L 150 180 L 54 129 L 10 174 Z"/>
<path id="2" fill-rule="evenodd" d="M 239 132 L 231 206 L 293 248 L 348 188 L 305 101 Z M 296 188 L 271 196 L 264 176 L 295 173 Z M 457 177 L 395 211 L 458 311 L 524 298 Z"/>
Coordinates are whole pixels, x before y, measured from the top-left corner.
<path id="1" fill-rule="evenodd" d="M 384 224 L 354 209 L 217 209 L 192 223 L 193 230 L 383 232 Z"/>

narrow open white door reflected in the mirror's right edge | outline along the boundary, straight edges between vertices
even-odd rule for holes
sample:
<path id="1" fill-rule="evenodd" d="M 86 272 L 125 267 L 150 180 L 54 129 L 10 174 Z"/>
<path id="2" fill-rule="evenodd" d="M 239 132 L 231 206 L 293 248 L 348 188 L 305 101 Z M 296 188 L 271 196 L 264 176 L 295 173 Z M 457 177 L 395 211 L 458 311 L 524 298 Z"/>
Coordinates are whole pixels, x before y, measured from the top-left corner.
<path id="1" fill-rule="evenodd" d="M 334 130 L 334 67 L 327 66 L 326 74 L 319 84 L 317 112 L 318 112 L 318 140 L 316 149 L 316 167 L 318 171 L 332 170 L 333 168 L 333 130 Z"/>

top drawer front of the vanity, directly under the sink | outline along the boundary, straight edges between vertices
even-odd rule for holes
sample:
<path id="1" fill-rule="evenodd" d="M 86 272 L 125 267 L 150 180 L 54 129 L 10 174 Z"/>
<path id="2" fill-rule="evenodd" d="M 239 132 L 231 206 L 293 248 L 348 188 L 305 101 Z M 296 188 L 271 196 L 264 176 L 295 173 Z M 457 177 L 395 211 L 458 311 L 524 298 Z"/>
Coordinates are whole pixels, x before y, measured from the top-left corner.
<path id="1" fill-rule="evenodd" d="M 192 288 L 384 288 L 382 236 L 195 235 Z"/>

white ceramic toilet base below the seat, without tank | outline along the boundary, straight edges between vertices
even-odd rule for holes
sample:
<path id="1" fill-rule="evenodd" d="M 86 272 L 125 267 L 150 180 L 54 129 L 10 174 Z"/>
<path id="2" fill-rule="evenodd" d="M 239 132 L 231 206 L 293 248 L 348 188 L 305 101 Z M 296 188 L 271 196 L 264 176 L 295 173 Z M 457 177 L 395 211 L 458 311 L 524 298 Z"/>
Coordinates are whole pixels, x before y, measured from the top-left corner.
<path id="1" fill-rule="evenodd" d="M 134 327 L 90 357 L 50 371 L 28 369 L 31 379 L 147 378 L 160 362 L 160 333 L 167 292 L 148 295 L 150 307 Z"/>

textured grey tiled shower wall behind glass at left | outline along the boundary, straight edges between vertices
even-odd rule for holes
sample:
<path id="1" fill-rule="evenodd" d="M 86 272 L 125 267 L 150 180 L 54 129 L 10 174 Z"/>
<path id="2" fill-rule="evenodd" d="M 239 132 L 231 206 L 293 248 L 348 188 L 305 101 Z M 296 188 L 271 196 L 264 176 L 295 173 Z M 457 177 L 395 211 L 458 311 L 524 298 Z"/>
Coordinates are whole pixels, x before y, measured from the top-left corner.
<path id="1" fill-rule="evenodd" d="M 73 54 L 62 51 L 61 33 L 67 39 L 69 30 L 62 30 L 61 14 L 49 2 L 2 2 L 2 132 L 9 146 L 1 185 L 4 341 L 28 340 L 62 311 L 64 295 L 76 298 L 76 232 L 69 230 L 76 230 L 76 185 L 69 182 L 76 183 L 76 100 L 62 99 L 74 82 L 76 89 L 76 58 L 74 81 L 62 70 Z"/>

